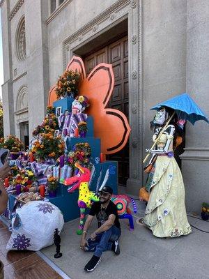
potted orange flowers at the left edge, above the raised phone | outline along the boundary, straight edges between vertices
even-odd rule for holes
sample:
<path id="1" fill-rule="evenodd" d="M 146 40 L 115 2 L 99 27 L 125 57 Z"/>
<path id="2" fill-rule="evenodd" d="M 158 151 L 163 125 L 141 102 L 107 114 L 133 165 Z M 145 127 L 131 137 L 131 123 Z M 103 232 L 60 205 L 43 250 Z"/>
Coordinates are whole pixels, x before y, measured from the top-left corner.
<path id="1" fill-rule="evenodd" d="M 8 135 L 6 139 L 0 140 L 0 148 L 10 150 L 10 158 L 15 160 L 19 156 L 19 152 L 23 149 L 23 143 L 15 135 Z"/>

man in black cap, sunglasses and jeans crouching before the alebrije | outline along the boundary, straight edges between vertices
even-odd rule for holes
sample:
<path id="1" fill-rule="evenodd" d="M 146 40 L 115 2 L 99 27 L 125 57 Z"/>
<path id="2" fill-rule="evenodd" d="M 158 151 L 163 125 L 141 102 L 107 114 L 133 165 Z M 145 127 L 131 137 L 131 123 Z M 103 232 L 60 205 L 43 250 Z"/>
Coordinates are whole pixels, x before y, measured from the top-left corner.
<path id="1" fill-rule="evenodd" d="M 100 263 L 102 252 L 112 250 L 120 254 L 118 238 L 121 236 L 121 227 L 118 220 L 116 205 L 111 202 L 112 188 L 104 186 L 99 192 L 100 202 L 94 202 L 84 225 L 80 248 L 92 251 L 93 257 L 84 266 L 85 271 L 91 272 Z M 86 240 L 88 228 L 91 226 L 93 216 L 98 219 L 98 229 Z"/>

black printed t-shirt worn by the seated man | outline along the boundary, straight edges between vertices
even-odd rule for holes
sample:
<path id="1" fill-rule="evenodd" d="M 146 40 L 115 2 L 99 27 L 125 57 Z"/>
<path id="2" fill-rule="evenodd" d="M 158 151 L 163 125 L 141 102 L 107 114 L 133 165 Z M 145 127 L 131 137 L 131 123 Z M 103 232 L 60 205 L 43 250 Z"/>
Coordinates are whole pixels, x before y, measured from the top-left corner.
<path id="1" fill-rule="evenodd" d="M 119 220 L 118 220 L 118 211 L 117 211 L 117 207 L 114 204 L 114 202 L 109 202 L 108 206 L 106 209 L 103 209 L 101 206 L 101 202 L 94 202 L 93 205 L 91 206 L 89 215 L 91 216 L 95 216 L 98 219 L 98 227 L 101 227 L 101 225 L 104 224 L 104 222 L 107 221 L 107 219 L 109 218 L 109 216 L 111 214 L 114 214 L 116 216 L 114 225 L 116 227 L 118 227 L 119 229 L 121 229 Z"/>

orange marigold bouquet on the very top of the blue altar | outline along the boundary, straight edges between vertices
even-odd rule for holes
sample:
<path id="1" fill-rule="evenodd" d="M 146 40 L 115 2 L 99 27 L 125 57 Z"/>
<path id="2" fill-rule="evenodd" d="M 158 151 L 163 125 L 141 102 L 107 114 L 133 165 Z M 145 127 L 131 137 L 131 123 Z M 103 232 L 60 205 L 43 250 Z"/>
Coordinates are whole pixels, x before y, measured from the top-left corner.
<path id="1" fill-rule="evenodd" d="M 71 97 L 75 98 L 79 86 L 79 73 L 77 70 L 65 70 L 63 75 L 56 82 L 56 96 L 58 99 Z"/>

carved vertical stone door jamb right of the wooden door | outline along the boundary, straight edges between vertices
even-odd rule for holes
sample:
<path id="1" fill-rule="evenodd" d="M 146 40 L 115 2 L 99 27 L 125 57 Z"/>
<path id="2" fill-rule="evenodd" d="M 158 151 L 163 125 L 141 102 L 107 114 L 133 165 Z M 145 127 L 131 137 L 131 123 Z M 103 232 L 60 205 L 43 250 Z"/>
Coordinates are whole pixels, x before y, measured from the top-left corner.
<path id="1" fill-rule="evenodd" d="M 130 2 L 129 14 L 130 178 L 127 193 L 138 195 L 142 185 L 143 96 L 141 91 L 141 0 Z"/>

